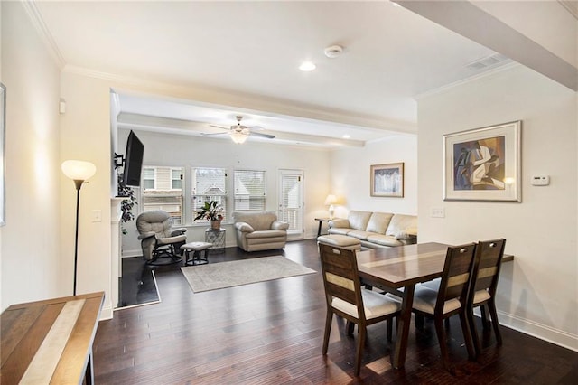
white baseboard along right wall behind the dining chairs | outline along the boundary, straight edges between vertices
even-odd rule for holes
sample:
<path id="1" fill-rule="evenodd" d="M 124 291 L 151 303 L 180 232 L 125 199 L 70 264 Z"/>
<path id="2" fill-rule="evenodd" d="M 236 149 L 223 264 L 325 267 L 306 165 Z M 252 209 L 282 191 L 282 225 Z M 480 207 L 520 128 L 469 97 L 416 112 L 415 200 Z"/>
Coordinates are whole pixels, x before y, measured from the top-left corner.
<path id="1" fill-rule="evenodd" d="M 498 310 L 499 324 L 525 333 L 548 343 L 555 343 L 571 351 L 578 352 L 578 335 L 539 324 L 526 318 L 510 315 Z"/>

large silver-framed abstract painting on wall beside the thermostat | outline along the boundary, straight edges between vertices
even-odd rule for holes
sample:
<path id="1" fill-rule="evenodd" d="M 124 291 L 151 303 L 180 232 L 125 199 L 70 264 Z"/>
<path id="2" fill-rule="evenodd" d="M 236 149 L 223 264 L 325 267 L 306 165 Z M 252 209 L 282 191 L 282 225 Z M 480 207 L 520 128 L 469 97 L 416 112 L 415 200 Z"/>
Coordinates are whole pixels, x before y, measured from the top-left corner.
<path id="1" fill-rule="evenodd" d="M 444 201 L 522 202 L 522 121 L 443 136 Z"/>

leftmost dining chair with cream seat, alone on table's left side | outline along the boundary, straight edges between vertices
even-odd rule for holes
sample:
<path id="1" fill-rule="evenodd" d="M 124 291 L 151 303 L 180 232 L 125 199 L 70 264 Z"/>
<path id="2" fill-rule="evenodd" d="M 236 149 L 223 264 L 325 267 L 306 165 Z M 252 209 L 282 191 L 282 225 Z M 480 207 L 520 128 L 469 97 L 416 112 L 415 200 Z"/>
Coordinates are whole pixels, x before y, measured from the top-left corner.
<path id="1" fill-rule="evenodd" d="M 327 301 L 327 317 L 323 335 L 323 355 L 327 354 L 333 315 L 339 315 L 349 325 L 358 325 L 358 343 L 355 357 L 355 375 L 359 375 L 361 356 L 369 324 L 391 321 L 399 315 L 398 301 L 361 288 L 357 258 L 354 250 L 319 244 L 322 262 L 323 286 Z M 348 333 L 352 330 L 348 327 Z M 387 339 L 391 340 L 391 324 L 387 325 Z"/>

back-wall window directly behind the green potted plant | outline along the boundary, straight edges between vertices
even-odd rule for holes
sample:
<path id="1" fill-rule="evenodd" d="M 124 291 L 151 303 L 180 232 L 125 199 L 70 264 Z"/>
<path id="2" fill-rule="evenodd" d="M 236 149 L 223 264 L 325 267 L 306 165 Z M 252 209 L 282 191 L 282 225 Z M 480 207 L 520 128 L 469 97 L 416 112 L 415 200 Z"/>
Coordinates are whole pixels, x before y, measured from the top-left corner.
<path id="1" fill-rule="evenodd" d="M 228 171 L 226 168 L 193 167 L 191 172 L 192 220 L 205 202 L 217 201 L 223 207 L 223 221 L 228 219 Z M 199 220 L 198 223 L 208 221 Z"/>

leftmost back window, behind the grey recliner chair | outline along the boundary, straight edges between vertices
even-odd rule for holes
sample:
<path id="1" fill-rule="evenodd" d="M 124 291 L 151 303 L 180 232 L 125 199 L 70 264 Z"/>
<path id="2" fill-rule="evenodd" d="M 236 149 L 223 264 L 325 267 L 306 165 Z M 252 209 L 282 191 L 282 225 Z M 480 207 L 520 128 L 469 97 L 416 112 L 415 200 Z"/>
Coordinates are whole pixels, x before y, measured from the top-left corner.
<path id="1" fill-rule="evenodd" d="M 163 210 L 182 224 L 182 167 L 143 167 L 142 211 Z"/>

